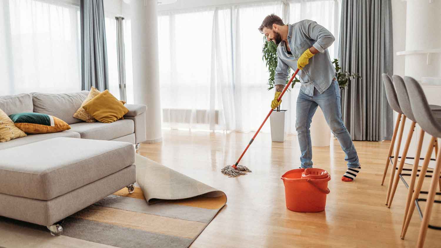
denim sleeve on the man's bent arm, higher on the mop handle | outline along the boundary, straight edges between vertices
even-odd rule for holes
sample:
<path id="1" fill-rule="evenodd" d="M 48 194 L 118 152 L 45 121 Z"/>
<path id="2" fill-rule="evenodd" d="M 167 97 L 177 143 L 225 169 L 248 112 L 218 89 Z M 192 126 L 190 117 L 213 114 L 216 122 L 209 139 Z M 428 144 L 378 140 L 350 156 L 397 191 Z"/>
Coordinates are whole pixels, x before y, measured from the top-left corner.
<path id="1" fill-rule="evenodd" d="M 317 24 L 317 22 L 311 20 L 301 21 L 301 27 L 303 33 L 316 42 L 312 45 L 318 52 L 324 53 L 335 41 L 335 37 L 324 26 Z"/>

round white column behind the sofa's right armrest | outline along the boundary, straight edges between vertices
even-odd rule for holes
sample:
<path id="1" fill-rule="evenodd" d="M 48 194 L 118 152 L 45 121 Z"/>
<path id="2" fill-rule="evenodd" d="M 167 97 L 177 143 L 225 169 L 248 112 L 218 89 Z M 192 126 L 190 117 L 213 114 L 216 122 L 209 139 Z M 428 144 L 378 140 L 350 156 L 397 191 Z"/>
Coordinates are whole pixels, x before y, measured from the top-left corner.
<path id="1" fill-rule="evenodd" d="M 145 143 L 161 142 L 157 0 L 131 0 L 130 7 L 134 102 L 147 105 Z"/>

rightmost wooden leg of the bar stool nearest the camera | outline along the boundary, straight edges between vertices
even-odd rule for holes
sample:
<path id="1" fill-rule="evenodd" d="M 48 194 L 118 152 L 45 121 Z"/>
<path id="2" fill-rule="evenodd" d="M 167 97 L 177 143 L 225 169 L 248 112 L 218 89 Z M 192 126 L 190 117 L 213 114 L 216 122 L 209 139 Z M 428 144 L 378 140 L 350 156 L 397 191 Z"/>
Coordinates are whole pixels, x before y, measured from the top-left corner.
<path id="1" fill-rule="evenodd" d="M 432 176 L 432 182 L 430 183 L 429 194 L 426 201 L 426 209 L 424 210 L 424 215 L 422 216 L 421 227 L 419 229 L 417 247 L 422 248 L 424 245 L 424 240 L 426 239 L 427 228 L 429 225 L 430 215 L 432 214 L 432 207 L 434 205 L 435 193 L 437 191 L 438 176 L 441 172 L 441 153 L 437 152 L 437 165 L 434 170 L 434 175 Z"/>

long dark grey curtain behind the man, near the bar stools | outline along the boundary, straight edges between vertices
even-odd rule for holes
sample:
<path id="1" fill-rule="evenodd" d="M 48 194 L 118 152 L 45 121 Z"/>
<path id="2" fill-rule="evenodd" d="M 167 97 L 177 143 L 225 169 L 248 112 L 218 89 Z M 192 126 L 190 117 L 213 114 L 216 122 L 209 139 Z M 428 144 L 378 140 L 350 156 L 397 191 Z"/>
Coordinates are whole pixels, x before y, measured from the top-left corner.
<path id="1" fill-rule="evenodd" d="M 343 0 L 339 60 L 342 71 L 358 73 L 342 90 L 344 124 L 353 140 L 391 139 L 393 113 L 381 74 L 392 75 L 391 0 Z"/>

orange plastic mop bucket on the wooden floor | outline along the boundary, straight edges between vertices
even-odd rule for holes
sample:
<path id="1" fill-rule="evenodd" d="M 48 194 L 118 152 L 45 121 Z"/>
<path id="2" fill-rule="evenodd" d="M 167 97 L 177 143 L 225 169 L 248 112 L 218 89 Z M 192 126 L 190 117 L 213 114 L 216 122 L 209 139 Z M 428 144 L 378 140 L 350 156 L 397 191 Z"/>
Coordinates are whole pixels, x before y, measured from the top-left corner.
<path id="1" fill-rule="evenodd" d="M 289 170 L 282 175 L 285 185 L 286 207 L 295 212 L 321 212 L 325 210 L 328 181 L 326 170 L 309 168 Z"/>

